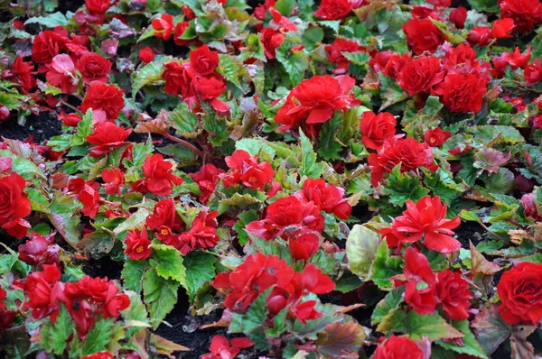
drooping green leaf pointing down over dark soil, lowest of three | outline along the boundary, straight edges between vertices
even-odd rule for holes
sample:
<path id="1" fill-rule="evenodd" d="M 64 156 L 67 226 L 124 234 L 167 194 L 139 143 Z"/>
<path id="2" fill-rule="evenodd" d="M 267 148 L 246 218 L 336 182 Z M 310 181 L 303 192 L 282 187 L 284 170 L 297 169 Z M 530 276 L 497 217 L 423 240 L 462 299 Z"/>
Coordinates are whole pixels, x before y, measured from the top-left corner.
<path id="1" fill-rule="evenodd" d="M 175 306 L 179 285 L 177 281 L 160 277 L 154 270 L 145 272 L 143 277 L 143 299 L 154 322 L 154 328 L 160 325 L 165 316 Z"/>

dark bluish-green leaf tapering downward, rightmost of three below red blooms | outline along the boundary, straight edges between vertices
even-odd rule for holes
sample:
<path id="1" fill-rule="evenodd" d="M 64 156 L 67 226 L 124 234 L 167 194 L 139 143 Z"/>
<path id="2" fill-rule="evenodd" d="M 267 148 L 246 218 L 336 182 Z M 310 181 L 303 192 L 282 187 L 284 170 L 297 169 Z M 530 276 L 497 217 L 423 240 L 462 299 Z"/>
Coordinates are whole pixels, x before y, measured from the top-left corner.
<path id="1" fill-rule="evenodd" d="M 215 276 L 214 262 L 216 257 L 210 253 L 196 251 L 184 257 L 186 268 L 186 290 L 190 301 L 193 302 L 196 292 L 203 283 L 210 281 Z"/>

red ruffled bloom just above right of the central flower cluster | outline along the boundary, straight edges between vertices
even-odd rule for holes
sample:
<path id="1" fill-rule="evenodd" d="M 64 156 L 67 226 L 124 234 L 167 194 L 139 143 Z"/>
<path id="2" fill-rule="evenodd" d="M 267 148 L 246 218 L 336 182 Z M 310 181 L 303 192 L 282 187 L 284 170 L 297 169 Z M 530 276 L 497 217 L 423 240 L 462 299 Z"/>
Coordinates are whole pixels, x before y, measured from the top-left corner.
<path id="1" fill-rule="evenodd" d="M 344 189 L 328 184 L 323 179 L 306 179 L 303 194 L 307 201 L 313 201 L 322 211 L 333 213 L 341 219 L 348 219 L 352 207 L 344 196 Z"/>

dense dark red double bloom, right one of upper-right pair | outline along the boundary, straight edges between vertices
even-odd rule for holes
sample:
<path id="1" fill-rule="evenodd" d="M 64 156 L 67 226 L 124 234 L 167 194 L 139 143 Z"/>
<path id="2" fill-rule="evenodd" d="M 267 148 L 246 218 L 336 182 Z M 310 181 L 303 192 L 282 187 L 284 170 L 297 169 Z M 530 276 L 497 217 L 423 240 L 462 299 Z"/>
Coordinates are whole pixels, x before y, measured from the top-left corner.
<path id="1" fill-rule="evenodd" d="M 444 106 L 452 112 L 478 112 L 487 92 L 487 78 L 480 74 L 463 73 L 446 75 L 435 88 Z"/>

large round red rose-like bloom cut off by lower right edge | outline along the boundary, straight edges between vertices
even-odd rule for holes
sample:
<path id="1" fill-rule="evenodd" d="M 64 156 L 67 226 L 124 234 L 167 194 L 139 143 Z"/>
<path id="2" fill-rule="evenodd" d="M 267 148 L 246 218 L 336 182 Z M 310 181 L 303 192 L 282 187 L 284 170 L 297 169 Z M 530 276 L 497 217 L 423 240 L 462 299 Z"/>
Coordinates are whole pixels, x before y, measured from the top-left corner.
<path id="1" fill-rule="evenodd" d="M 500 316 L 508 324 L 537 325 L 542 318 L 542 264 L 521 262 L 497 285 Z"/>

